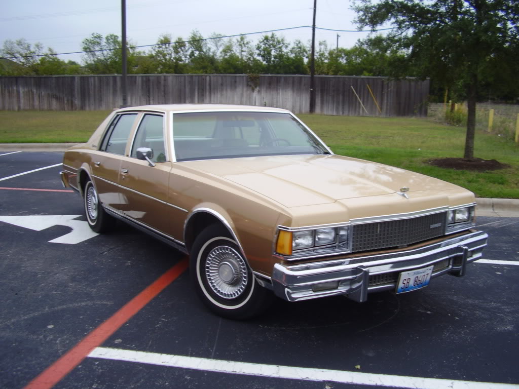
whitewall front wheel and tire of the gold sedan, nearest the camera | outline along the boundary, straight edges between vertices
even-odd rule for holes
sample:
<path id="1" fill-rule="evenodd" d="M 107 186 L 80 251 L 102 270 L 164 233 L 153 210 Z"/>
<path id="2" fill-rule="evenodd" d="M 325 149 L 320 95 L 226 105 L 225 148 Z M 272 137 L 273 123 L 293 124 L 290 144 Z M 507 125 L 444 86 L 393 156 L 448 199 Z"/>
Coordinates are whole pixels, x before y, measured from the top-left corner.
<path id="1" fill-rule="evenodd" d="M 268 308 L 273 297 L 256 282 L 240 248 L 219 225 L 207 227 L 196 238 L 190 275 L 202 302 L 223 317 L 256 316 Z"/>

